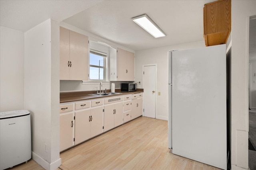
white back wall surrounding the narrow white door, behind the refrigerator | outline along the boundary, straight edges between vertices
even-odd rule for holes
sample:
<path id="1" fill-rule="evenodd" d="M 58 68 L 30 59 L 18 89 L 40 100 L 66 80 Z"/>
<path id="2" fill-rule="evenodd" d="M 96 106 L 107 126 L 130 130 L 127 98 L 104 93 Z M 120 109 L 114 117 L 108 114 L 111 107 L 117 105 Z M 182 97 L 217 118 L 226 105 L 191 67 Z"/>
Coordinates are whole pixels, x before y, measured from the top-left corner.
<path id="1" fill-rule="evenodd" d="M 155 49 L 136 51 L 135 54 L 135 82 L 141 82 L 137 88 L 143 88 L 142 66 L 157 64 L 156 118 L 168 120 L 168 51 L 205 47 L 204 41 L 172 45 Z"/>

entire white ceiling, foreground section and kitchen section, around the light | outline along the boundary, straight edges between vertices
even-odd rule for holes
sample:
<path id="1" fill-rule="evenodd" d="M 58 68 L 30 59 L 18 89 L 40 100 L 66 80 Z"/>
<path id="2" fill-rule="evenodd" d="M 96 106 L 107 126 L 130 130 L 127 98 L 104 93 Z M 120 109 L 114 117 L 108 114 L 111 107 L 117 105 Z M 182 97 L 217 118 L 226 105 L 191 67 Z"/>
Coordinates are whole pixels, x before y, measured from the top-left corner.
<path id="1" fill-rule="evenodd" d="M 0 0 L 0 25 L 26 32 L 52 18 L 141 50 L 203 41 L 203 7 L 213 1 Z M 142 14 L 147 14 L 167 36 L 156 39 L 131 20 Z"/>

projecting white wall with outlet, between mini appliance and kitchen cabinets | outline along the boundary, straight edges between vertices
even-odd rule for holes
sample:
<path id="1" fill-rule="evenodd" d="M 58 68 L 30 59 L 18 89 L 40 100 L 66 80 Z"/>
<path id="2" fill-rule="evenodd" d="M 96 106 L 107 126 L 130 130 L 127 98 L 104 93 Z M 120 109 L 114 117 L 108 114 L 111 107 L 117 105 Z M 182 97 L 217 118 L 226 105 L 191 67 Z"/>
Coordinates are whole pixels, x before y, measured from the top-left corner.
<path id="1" fill-rule="evenodd" d="M 32 117 L 32 158 L 47 170 L 56 169 L 61 164 L 59 24 L 49 19 L 27 31 L 24 54 L 24 108 Z"/>

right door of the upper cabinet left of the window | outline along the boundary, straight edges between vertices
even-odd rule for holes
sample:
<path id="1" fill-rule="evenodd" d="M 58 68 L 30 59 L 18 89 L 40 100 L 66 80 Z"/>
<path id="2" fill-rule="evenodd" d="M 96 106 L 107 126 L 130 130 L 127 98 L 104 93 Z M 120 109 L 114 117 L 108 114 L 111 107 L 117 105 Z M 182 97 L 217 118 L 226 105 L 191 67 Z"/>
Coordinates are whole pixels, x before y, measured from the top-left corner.
<path id="1" fill-rule="evenodd" d="M 88 80 L 88 37 L 70 31 L 70 80 Z"/>

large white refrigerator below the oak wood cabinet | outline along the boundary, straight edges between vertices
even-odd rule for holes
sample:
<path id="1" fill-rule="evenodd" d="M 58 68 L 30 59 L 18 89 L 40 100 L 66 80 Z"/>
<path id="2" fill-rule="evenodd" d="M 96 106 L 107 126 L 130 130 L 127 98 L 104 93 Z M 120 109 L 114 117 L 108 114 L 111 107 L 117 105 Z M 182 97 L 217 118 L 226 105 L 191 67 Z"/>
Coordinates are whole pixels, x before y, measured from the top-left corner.
<path id="1" fill-rule="evenodd" d="M 168 64 L 168 147 L 226 170 L 226 45 L 169 51 Z"/>

